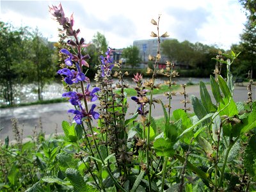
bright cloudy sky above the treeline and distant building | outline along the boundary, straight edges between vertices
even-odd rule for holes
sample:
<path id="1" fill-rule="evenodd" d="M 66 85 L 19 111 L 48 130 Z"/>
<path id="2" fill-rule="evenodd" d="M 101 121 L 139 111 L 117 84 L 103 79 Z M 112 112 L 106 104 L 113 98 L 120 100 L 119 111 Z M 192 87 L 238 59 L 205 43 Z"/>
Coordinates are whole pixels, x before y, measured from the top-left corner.
<path id="1" fill-rule="evenodd" d="M 152 38 L 157 33 L 159 14 L 160 34 L 182 42 L 214 45 L 230 49 L 238 44 L 246 16 L 238 0 L 74 0 L 74 1 L 12 1 L 0 0 L 0 20 L 14 27 L 38 28 L 49 41 L 58 41 L 58 22 L 49 13 L 52 4 L 62 4 L 66 17 L 74 13 L 74 29 L 79 37 L 91 42 L 93 35 L 102 33 L 111 48 L 125 48 L 134 40 Z"/>

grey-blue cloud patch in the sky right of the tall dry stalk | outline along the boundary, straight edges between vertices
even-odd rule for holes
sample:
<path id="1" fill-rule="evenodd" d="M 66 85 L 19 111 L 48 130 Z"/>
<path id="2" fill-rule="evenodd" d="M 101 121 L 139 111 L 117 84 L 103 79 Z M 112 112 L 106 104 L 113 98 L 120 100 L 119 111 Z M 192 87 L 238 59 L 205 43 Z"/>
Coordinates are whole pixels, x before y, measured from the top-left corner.
<path id="1" fill-rule="evenodd" d="M 207 17 L 211 15 L 210 12 L 201 7 L 193 10 L 168 7 L 166 13 L 173 19 L 173 22 L 170 23 L 170 29 L 175 38 L 191 42 L 200 40 L 198 29 L 201 29 L 207 23 Z"/>

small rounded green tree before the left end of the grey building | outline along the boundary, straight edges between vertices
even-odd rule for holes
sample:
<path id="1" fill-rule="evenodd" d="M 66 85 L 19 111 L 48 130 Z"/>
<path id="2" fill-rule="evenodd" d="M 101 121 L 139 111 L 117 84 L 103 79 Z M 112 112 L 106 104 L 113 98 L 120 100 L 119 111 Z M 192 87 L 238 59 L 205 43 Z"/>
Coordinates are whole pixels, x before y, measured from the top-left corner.
<path id="1" fill-rule="evenodd" d="M 136 46 L 126 47 L 122 52 L 122 57 L 126 59 L 126 63 L 131 67 L 136 67 L 140 63 L 140 50 Z"/>

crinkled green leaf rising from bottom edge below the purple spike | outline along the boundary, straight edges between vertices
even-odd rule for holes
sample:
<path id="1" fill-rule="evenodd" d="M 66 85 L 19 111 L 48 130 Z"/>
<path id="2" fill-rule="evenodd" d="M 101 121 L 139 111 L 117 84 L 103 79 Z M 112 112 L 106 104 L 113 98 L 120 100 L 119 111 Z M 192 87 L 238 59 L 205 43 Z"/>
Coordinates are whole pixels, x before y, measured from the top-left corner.
<path id="1" fill-rule="evenodd" d="M 83 177 L 80 175 L 80 173 L 75 170 L 74 168 L 67 168 L 66 170 L 67 178 L 70 180 L 72 186 L 74 187 L 74 192 L 83 192 L 83 191 L 90 191 L 90 192 L 96 192 L 99 191 L 92 186 L 89 186 L 84 182 Z"/>

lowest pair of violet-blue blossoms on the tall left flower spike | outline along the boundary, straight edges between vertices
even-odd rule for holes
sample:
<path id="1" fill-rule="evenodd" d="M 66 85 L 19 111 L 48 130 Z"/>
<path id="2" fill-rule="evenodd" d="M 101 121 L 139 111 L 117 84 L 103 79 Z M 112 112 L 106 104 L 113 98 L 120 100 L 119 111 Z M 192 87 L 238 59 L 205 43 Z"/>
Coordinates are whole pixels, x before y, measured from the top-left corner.
<path id="1" fill-rule="evenodd" d="M 99 113 L 97 113 L 96 111 L 94 111 L 94 109 L 96 108 L 95 104 L 92 104 L 92 108 L 90 109 L 90 111 L 88 113 L 86 113 L 86 111 L 82 108 L 81 104 L 79 103 L 79 107 L 80 107 L 80 111 L 79 110 L 75 110 L 75 109 L 69 109 L 68 113 L 73 113 L 74 116 L 74 120 L 77 124 L 82 124 L 82 120 L 83 118 L 87 117 L 87 118 L 94 118 L 94 119 L 98 119 L 99 118 Z"/>

